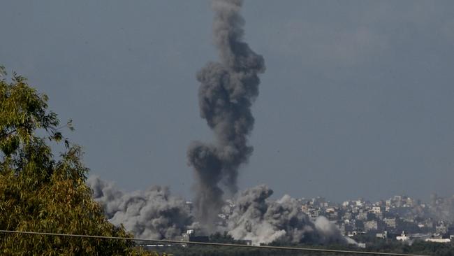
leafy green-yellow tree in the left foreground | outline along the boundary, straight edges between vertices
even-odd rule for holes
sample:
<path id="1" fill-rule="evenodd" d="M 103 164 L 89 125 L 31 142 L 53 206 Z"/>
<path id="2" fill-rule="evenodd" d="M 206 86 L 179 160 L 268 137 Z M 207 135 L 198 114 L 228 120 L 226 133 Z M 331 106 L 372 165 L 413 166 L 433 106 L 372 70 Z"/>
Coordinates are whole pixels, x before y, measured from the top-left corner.
<path id="1" fill-rule="evenodd" d="M 64 127 L 73 129 L 71 121 Z M 64 138 L 47 97 L 0 67 L 0 229 L 131 237 L 91 199 L 82 150 Z M 38 136 L 41 134 L 41 136 Z M 44 134 L 44 135 L 43 135 Z M 62 143 L 64 142 L 64 143 Z M 50 143 L 64 144 L 54 157 Z M 0 234 L 2 255 L 143 255 L 124 240 Z"/>

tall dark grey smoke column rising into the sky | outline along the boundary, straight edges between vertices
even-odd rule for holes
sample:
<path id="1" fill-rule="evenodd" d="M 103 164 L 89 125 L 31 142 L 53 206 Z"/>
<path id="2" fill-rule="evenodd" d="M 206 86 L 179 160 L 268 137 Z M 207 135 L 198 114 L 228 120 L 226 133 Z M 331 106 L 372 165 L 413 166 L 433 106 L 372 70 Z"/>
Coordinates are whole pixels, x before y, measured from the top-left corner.
<path id="1" fill-rule="evenodd" d="M 216 141 L 193 142 L 187 155 L 196 172 L 198 219 L 208 228 L 223 204 L 222 188 L 237 191 L 238 168 L 252 153 L 247 143 L 254 127 L 251 104 L 258 96 L 258 73 L 265 71 L 263 57 L 242 41 L 241 6 L 242 0 L 212 1 L 219 62 L 210 62 L 197 73 L 200 116 Z"/>

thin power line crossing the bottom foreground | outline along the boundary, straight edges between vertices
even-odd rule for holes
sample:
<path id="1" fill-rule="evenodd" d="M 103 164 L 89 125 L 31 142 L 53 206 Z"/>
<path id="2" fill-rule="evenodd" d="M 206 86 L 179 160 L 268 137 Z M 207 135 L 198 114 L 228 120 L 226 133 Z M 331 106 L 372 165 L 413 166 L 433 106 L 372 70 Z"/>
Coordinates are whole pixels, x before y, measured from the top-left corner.
<path id="1" fill-rule="evenodd" d="M 118 236 L 91 236 L 80 234 L 58 234 L 46 232 L 27 232 L 27 231 L 13 231 L 13 230 L 0 230 L 0 233 L 10 234 L 31 234 L 31 235 L 44 235 L 44 236 L 69 236 L 69 237 L 85 237 L 91 239 L 115 239 L 115 240 L 129 240 L 129 241 L 147 241 L 154 243 L 182 243 L 194 244 L 200 246 L 230 246 L 230 247 L 243 247 L 243 248 L 256 248 L 256 249 L 274 249 L 274 250 L 299 250 L 306 252 L 320 252 L 320 253 L 349 253 L 360 255 L 390 255 L 390 256 L 429 256 L 429 255 L 416 255 L 416 254 L 403 254 L 403 253 L 374 253 L 359 250 L 330 250 L 330 249 L 317 249 L 317 248 L 300 248 L 300 247 L 285 247 L 285 246 L 249 246 L 245 244 L 234 243 L 205 243 L 205 242 L 190 242 L 190 241 L 175 241 L 175 240 L 159 240 L 159 239 L 133 239 L 129 237 Z"/>

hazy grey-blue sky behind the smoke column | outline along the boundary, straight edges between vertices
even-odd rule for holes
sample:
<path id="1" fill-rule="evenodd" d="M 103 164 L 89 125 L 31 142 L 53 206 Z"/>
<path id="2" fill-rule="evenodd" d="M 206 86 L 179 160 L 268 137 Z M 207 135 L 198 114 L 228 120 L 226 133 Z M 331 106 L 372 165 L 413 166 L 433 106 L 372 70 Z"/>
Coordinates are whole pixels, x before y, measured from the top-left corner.
<path id="1" fill-rule="evenodd" d="M 328 199 L 454 194 L 454 1 L 247 1 L 267 71 L 240 189 Z M 212 140 L 196 72 L 209 1 L 2 1 L 0 64 L 50 97 L 91 173 L 191 197 Z"/>

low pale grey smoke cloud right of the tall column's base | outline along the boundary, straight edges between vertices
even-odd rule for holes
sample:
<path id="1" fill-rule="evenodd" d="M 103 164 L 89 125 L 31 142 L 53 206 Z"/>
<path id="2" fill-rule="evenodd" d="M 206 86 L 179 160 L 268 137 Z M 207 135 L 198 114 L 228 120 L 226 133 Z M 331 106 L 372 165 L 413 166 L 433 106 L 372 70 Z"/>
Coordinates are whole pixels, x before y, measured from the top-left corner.
<path id="1" fill-rule="evenodd" d="M 315 222 L 300 211 L 301 204 L 284 195 L 269 199 L 272 190 L 259 185 L 240 193 L 235 199 L 233 214 L 228 219 L 229 234 L 235 239 L 251 240 L 258 245 L 276 240 L 293 243 L 354 243 L 325 217 Z"/>

